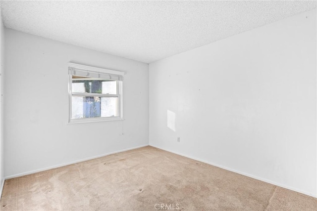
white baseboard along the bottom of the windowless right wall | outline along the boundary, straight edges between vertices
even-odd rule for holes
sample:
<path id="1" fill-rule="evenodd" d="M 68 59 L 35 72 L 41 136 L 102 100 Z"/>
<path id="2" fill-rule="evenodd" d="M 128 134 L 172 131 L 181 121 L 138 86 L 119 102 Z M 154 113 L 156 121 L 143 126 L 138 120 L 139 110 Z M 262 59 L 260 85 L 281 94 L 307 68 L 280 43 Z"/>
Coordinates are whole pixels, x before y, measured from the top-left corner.
<path id="1" fill-rule="evenodd" d="M 200 162 L 209 164 L 211 166 L 215 166 L 215 167 L 218 167 L 218 168 L 221 168 L 221 169 L 226 169 L 226 170 L 229 170 L 229 171 L 232 171 L 232 172 L 235 172 L 235 173 L 242 174 L 244 176 L 248 176 L 248 177 L 251 177 L 251 178 L 254 178 L 254 179 L 258 179 L 258 180 L 267 182 L 267 183 L 272 184 L 272 185 L 276 185 L 276 186 L 279 186 L 279 187 L 282 187 L 282 188 L 286 188 L 286 189 L 289 189 L 289 190 L 292 190 L 292 191 L 296 191 L 298 193 L 302 193 L 302 194 L 317 198 L 317 193 L 310 193 L 310 192 L 307 192 L 307 191 L 299 190 L 299 189 L 294 188 L 294 187 L 283 185 L 283 184 L 280 184 L 280 183 L 277 183 L 277 182 L 274 182 L 274 181 L 271 181 L 271 180 L 268 180 L 268 179 L 264 179 L 264 178 L 261 178 L 261 177 L 258 177 L 258 176 L 254 176 L 254 175 L 251 175 L 251 174 L 248 174 L 248 173 L 244 173 L 244 172 L 241 172 L 241 171 L 238 171 L 238 170 L 235 170 L 235 169 L 230 169 L 230 168 L 227 168 L 227 167 L 223 167 L 223 166 L 220 166 L 220 165 L 208 162 L 208 161 L 204 161 L 204 160 L 199 159 L 199 158 L 195 158 L 195 157 L 192 157 L 192 156 L 184 155 L 182 153 L 175 152 L 175 151 L 172 151 L 172 150 L 164 149 L 162 147 L 158 147 L 158 146 L 155 146 L 153 144 L 150 144 L 150 146 L 153 146 L 153 147 L 159 148 L 161 150 L 164 150 L 164 151 L 167 151 L 167 152 L 171 152 L 171 153 L 174 153 L 174 154 L 177 154 L 177 155 L 180 155 L 180 156 L 184 156 L 186 158 L 190 158 L 190 159 L 193 159 L 193 160 L 196 160 L 196 161 L 200 161 Z"/>

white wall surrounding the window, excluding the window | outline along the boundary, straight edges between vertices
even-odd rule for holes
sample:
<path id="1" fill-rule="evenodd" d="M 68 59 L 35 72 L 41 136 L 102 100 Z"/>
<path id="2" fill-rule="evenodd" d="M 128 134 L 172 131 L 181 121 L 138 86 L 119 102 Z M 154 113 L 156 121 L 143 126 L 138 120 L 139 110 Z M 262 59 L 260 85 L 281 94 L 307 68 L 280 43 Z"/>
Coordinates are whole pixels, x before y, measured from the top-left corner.
<path id="1" fill-rule="evenodd" d="M 9 29 L 5 38 L 5 176 L 149 144 L 148 64 Z M 68 62 L 126 73 L 125 121 L 67 124 Z"/>

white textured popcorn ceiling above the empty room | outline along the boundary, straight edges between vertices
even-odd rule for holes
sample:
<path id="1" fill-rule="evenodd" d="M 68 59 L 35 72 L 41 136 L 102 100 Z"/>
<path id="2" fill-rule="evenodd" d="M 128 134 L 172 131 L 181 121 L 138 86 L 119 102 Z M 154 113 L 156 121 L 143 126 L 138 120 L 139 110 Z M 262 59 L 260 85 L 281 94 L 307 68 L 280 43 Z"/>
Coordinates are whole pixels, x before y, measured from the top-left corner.
<path id="1" fill-rule="evenodd" d="M 2 1 L 10 29 L 150 63 L 316 8 L 316 1 Z"/>

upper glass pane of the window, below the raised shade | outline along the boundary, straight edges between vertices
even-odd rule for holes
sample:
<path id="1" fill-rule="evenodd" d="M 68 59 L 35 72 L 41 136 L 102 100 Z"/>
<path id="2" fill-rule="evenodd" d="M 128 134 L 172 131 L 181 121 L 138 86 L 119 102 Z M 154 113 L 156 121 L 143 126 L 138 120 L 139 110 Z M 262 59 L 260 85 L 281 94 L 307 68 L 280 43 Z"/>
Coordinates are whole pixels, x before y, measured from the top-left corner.
<path id="1" fill-rule="evenodd" d="M 117 82 L 73 76 L 72 92 L 117 94 Z"/>

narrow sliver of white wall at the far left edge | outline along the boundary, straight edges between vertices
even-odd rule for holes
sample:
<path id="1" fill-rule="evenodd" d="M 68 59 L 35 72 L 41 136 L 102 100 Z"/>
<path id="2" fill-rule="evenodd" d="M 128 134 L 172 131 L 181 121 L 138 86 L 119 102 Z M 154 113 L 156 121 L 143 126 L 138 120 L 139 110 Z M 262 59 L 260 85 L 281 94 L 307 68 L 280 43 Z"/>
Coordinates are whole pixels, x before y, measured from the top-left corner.
<path id="1" fill-rule="evenodd" d="M 0 9 L 1 10 L 1 9 Z M 3 80 L 4 76 L 4 27 L 0 11 L 0 197 L 4 184 L 4 124 L 3 124 Z"/>

